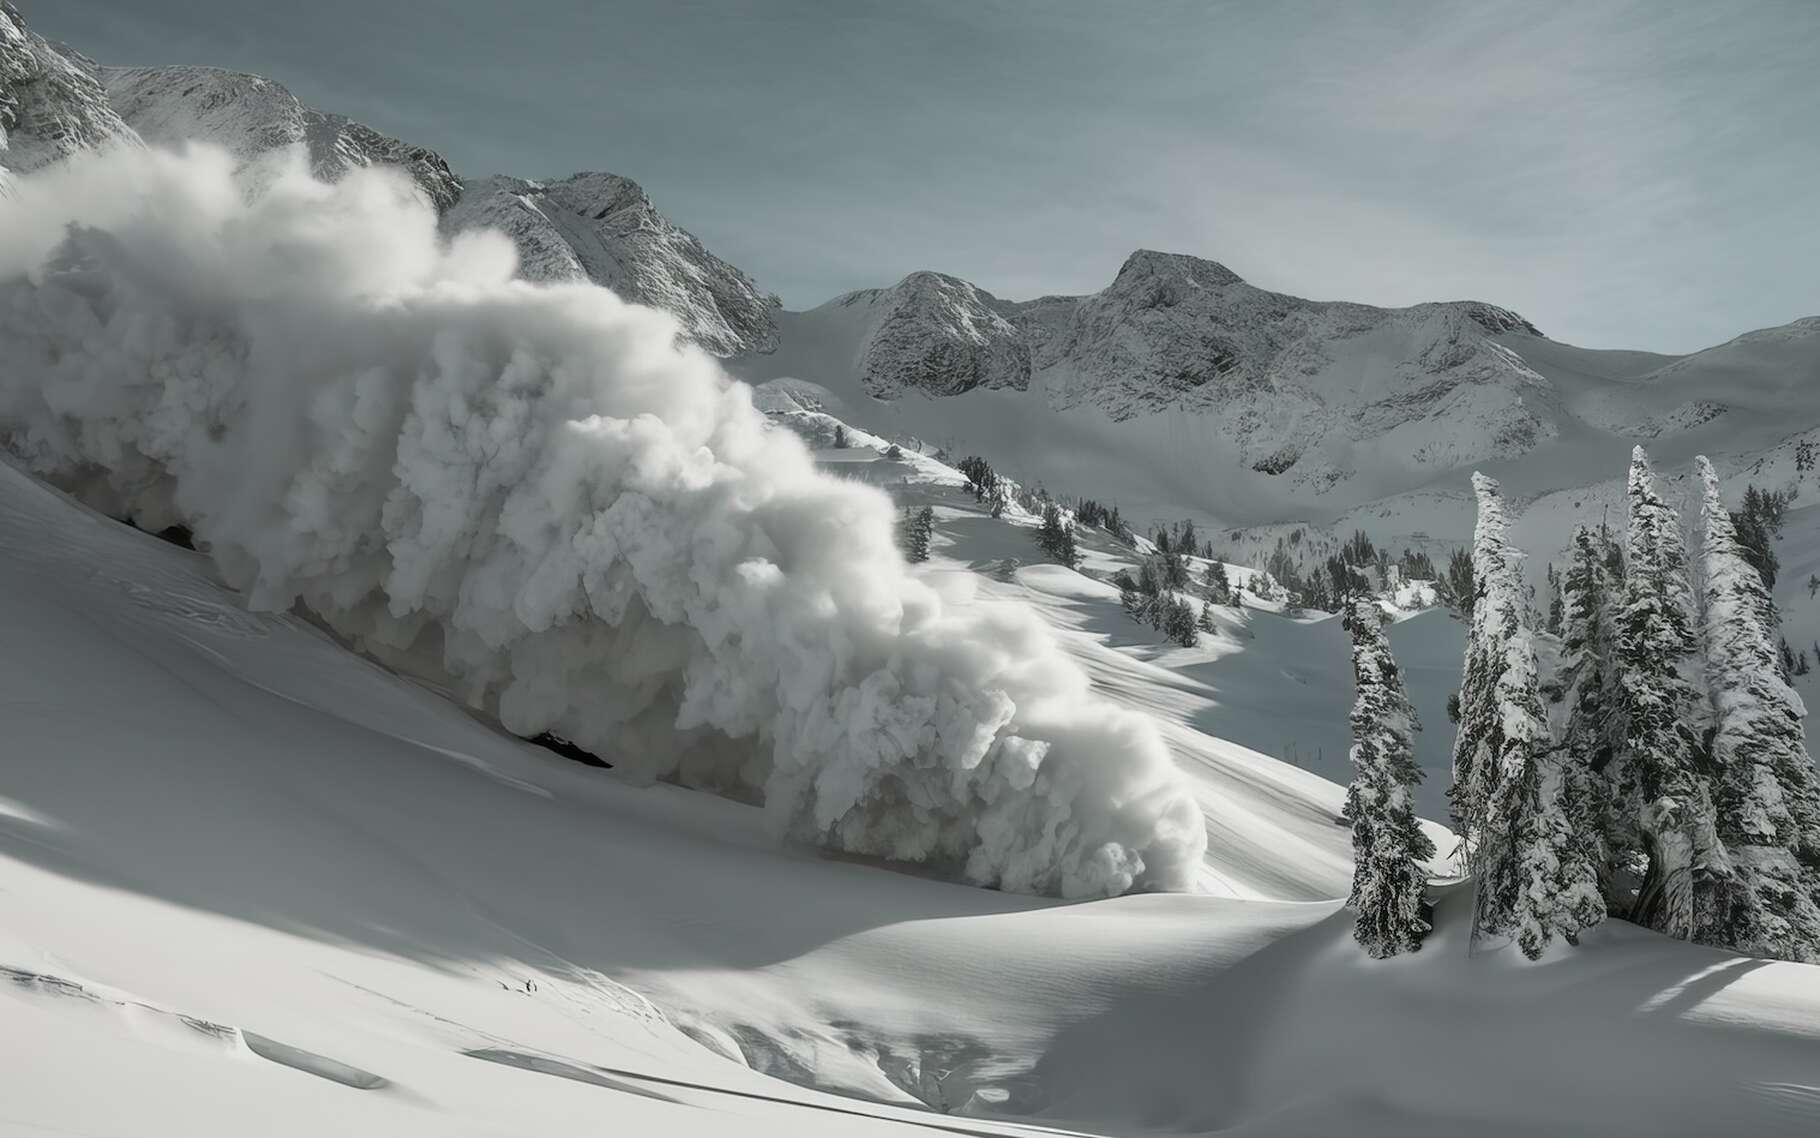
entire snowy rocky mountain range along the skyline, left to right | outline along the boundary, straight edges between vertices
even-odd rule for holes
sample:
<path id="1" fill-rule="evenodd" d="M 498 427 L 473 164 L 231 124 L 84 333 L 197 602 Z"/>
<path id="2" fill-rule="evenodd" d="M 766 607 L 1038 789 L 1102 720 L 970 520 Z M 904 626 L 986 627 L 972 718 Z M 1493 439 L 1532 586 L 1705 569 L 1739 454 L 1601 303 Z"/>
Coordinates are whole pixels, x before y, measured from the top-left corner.
<path id="1" fill-rule="evenodd" d="M 1820 424 L 1820 319 L 1687 357 L 1592 351 L 1494 304 L 1303 300 L 1150 249 L 1087 297 L 1003 300 L 919 271 L 784 311 L 621 175 L 462 177 L 255 75 L 98 66 L 0 2 L 0 186 L 84 147 L 186 138 L 240 160 L 302 144 L 328 178 L 400 166 L 450 231 L 499 228 L 528 279 L 595 280 L 673 313 L 774 397 L 986 453 L 1134 517 L 1458 539 L 1474 466 L 1536 497 L 1613 477 L 1633 442 L 1671 470 L 1696 452 L 1736 466 Z"/>

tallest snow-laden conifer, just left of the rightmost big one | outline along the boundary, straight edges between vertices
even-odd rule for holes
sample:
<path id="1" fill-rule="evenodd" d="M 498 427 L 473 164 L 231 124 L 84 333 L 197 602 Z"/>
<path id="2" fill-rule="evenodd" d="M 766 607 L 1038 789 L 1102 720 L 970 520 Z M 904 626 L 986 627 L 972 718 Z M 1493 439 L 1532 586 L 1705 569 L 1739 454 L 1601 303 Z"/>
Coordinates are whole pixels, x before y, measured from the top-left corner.
<path id="1" fill-rule="evenodd" d="M 1649 455 L 1631 452 L 1631 528 L 1623 601 L 1616 619 L 1618 706 L 1623 745 L 1613 763 L 1620 819 L 1614 854 L 1640 854 L 1647 869 L 1633 920 L 1691 940 L 1736 903 L 1736 876 L 1698 776 L 1700 696 L 1689 681 L 1694 655 L 1693 588 L 1680 521 L 1662 501 Z"/>

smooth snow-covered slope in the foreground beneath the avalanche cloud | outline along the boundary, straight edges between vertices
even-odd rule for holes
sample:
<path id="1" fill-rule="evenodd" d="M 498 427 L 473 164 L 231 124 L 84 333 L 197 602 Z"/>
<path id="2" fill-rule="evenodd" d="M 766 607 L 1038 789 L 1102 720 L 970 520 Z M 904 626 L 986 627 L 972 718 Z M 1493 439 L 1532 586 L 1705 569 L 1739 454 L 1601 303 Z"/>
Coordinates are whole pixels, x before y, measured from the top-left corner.
<path id="1" fill-rule="evenodd" d="M 950 506 L 939 539 L 974 524 L 1008 530 Z M 1218 739 L 1178 761 L 1228 830 L 1208 878 L 1252 899 L 1057 903 L 511 739 L 15 470 L 0 626 L 7 1133 L 1820 1123 L 1820 969 L 1616 921 L 1474 956 L 1447 890 L 1420 952 L 1369 961 L 1299 901 L 1343 889 L 1340 788 Z M 1065 635 L 1168 699 L 1165 666 Z"/>

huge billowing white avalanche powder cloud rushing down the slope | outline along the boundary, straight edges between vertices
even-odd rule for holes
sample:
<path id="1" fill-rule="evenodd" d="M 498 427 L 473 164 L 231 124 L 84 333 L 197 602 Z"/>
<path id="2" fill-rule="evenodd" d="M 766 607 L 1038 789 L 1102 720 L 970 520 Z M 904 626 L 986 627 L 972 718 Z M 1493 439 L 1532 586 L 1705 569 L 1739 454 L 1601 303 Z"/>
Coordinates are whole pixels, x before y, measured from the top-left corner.
<path id="1" fill-rule="evenodd" d="M 251 188 L 249 188 L 251 186 Z M 1017 606 L 912 579 L 673 319 L 513 280 L 399 173 L 82 157 L 0 202 L 0 430 L 255 608 L 779 834 L 1063 896 L 1185 889 L 1154 726 Z"/>

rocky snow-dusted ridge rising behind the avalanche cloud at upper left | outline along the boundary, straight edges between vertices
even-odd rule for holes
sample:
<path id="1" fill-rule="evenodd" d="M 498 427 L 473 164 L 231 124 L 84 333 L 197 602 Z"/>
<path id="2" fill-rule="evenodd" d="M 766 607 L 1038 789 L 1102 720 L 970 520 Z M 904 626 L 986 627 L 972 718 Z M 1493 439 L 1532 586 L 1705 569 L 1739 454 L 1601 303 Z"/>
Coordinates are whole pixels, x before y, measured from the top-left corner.
<path id="1" fill-rule="evenodd" d="M 777 297 L 710 253 L 637 182 L 577 173 L 550 182 L 462 178 L 433 149 L 306 106 L 282 84 L 218 67 L 107 67 L 46 42 L 0 4 L 0 186 L 109 142 L 224 147 L 242 164 L 302 146 L 313 173 L 366 166 L 411 175 L 450 231 L 491 226 L 519 246 L 530 280 L 592 280 L 673 315 L 715 355 L 775 346 Z"/>

